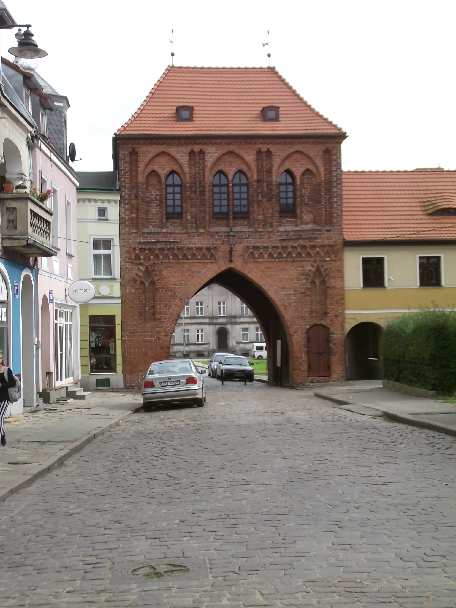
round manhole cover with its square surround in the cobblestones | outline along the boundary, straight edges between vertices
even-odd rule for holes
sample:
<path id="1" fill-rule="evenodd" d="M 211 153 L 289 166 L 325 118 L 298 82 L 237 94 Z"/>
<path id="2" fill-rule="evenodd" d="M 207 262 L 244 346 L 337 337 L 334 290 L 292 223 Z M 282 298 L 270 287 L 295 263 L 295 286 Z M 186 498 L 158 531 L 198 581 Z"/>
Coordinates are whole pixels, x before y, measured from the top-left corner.
<path id="1" fill-rule="evenodd" d="M 111 584 L 121 581 L 136 585 L 167 586 L 179 581 L 201 581 L 210 578 L 207 561 L 204 558 L 157 559 L 148 562 L 116 562 Z"/>

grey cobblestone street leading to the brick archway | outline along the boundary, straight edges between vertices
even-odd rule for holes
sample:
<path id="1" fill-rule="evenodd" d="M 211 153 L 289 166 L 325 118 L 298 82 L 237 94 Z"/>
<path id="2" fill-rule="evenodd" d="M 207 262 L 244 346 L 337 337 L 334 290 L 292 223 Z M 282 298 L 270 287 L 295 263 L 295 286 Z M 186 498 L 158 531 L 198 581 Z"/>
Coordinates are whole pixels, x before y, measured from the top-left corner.
<path id="1" fill-rule="evenodd" d="M 455 606 L 453 437 L 207 386 L 2 503 L 0 606 Z"/>

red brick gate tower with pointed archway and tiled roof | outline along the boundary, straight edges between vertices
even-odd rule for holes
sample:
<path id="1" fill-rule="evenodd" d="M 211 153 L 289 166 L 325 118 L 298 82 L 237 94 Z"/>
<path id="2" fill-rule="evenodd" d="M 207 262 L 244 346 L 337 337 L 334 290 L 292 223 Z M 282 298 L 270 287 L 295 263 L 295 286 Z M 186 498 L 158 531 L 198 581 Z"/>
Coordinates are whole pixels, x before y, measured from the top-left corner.
<path id="1" fill-rule="evenodd" d="M 274 68 L 168 67 L 114 136 L 126 386 L 211 283 L 257 317 L 272 382 L 344 379 L 344 139 Z"/>

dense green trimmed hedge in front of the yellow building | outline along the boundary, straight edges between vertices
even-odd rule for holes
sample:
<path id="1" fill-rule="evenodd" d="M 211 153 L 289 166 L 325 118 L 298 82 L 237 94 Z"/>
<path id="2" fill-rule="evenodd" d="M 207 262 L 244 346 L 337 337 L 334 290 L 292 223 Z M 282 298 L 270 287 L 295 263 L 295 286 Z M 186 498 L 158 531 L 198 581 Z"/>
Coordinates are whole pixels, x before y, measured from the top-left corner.
<path id="1" fill-rule="evenodd" d="M 384 378 L 450 395 L 456 391 L 456 312 L 423 309 L 390 320 L 382 339 Z"/>

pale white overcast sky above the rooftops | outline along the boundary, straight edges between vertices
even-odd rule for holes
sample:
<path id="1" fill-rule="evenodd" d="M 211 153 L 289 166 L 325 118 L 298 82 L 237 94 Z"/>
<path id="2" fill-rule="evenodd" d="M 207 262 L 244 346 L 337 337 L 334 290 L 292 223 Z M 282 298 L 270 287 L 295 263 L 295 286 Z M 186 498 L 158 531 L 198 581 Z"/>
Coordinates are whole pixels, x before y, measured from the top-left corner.
<path id="1" fill-rule="evenodd" d="M 33 24 L 48 53 L 37 71 L 69 98 L 77 171 L 112 168 L 111 136 L 170 63 L 170 39 L 184 66 L 267 66 L 269 50 L 271 65 L 347 131 L 344 169 L 456 168 L 454 1 L 5 3 Z M 14 33 L 0 37 L 11 60 Z"/>

